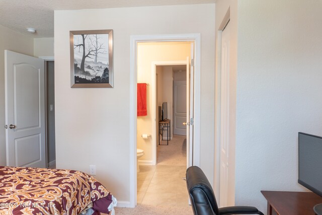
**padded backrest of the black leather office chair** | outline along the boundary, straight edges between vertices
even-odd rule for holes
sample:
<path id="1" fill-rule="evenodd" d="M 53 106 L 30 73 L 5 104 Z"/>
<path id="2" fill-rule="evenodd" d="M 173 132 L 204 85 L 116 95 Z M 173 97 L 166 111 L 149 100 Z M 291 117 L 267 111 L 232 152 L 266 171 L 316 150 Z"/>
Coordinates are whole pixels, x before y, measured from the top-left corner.
<path id="1" fill-rule="evenodd" d="M 189 167 L 186 172 L 186 179 L 194 214 L 218 215 L 215 194 L 203 171 L 197 166 Z"/>

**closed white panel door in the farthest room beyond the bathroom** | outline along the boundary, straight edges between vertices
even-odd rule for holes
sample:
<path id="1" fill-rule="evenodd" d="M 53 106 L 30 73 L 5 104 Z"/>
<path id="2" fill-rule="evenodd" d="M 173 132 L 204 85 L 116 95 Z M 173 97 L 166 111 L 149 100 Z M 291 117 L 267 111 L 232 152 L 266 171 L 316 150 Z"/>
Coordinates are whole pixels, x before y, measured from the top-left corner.
<path id="1" fill-rule="evenodd" d="M 173 133 L 187 135 L 187 81 L 173 83 Z"/>

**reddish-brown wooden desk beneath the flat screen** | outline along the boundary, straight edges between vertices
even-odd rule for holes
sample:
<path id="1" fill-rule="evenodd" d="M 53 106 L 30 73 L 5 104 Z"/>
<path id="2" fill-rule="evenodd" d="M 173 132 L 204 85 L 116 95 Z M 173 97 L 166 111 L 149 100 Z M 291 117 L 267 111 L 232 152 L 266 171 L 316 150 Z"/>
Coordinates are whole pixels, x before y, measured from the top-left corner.
<path id="1" fill-rule="evenodd" d="M 314 215 L 322 197 L 312 192 L 261 191 L 267 199 L 267 215 Z"/>

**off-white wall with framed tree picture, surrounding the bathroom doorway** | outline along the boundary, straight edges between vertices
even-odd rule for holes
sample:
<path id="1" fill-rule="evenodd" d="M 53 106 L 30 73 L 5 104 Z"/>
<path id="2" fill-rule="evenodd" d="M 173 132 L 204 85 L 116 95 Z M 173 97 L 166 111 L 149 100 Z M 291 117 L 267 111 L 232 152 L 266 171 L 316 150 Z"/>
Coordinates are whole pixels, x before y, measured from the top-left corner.
<path id="1" fill-rule="evenodd" d="M 55 11 L 54 21 L 57 167 L 96 165 L 96 177 L 128 205 L 130 36 L 201 33 L 201 167 L 213 181 L 214 4 Z M 70 88 L 69 31 L 91 29 L 114 31 L 114 88 Z"/>

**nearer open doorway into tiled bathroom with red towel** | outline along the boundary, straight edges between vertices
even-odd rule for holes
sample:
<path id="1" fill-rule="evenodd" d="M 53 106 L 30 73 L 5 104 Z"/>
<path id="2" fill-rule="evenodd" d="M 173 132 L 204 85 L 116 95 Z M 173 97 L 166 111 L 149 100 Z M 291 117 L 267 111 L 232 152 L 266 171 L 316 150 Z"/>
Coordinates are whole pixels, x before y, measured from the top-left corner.
<path id="1" fill-rule="evenodd" d="M 192 41 L 138 44 L 138 203 L 189 207 L 186 181 L 183 179 L 189 164 L 187 162 L 189 141 L 186 138 L 189 129 L 185 129 L 184 135 L 174 134 L 174 122 L 177 123 L 177 120 L 173 118 L 173 99 L 174 92 L 177 95 L 177 87 L 179 87 L 174 86 L 175 75 L 179 74 L 176 70 L 184 67 L 185 77 L 190 77 L 191 62 L 189 59 L 193 58 L 190 56 L 193 47 Z M 187 101 L 190 101 L 190 98 L 187 99 L 187 95 L 190 96 L 189 93 L 187 94 L 189 81 L 189 78 L 188 80 L 185 78 L 185 98 L 179 95 L 180 104 L 177 104 L 185 109 L 186 115 L 183 122 L 186 124 L 183 125 L 181 122 L 181 126 L 176 125 L 176 128 L 187 127 Z M 140 99 L 144 97 L 141 95 L 142 87 L 145 89 L 143 92 L 146 91 L 146 111 L 141 110 L 141 105 L 139 105 L 141 104 Z M 182 86 L 179 88 L 181 92 Z M 145 112 L 145 115 L 139 114 L 142 112 Z M 183 116 L 176 117 L 183 118 Z M 178 129 L 175 130 L 176 132 Z"/>

